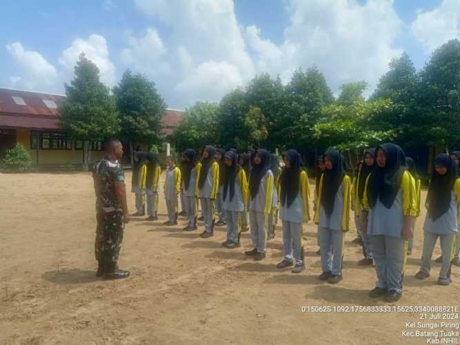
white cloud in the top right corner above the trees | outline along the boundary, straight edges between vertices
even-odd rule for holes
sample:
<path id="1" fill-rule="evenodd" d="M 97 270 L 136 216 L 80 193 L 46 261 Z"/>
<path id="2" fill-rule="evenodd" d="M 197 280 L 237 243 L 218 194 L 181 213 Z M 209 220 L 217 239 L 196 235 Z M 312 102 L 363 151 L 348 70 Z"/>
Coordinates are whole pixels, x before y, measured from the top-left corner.
<path id="1" fill-rule="evenodd" d="M 450 39 L 460 39 L 460 0 L 443 0 L 434 10 L 419 10 L 410 30 L 426 52 Z"/>

